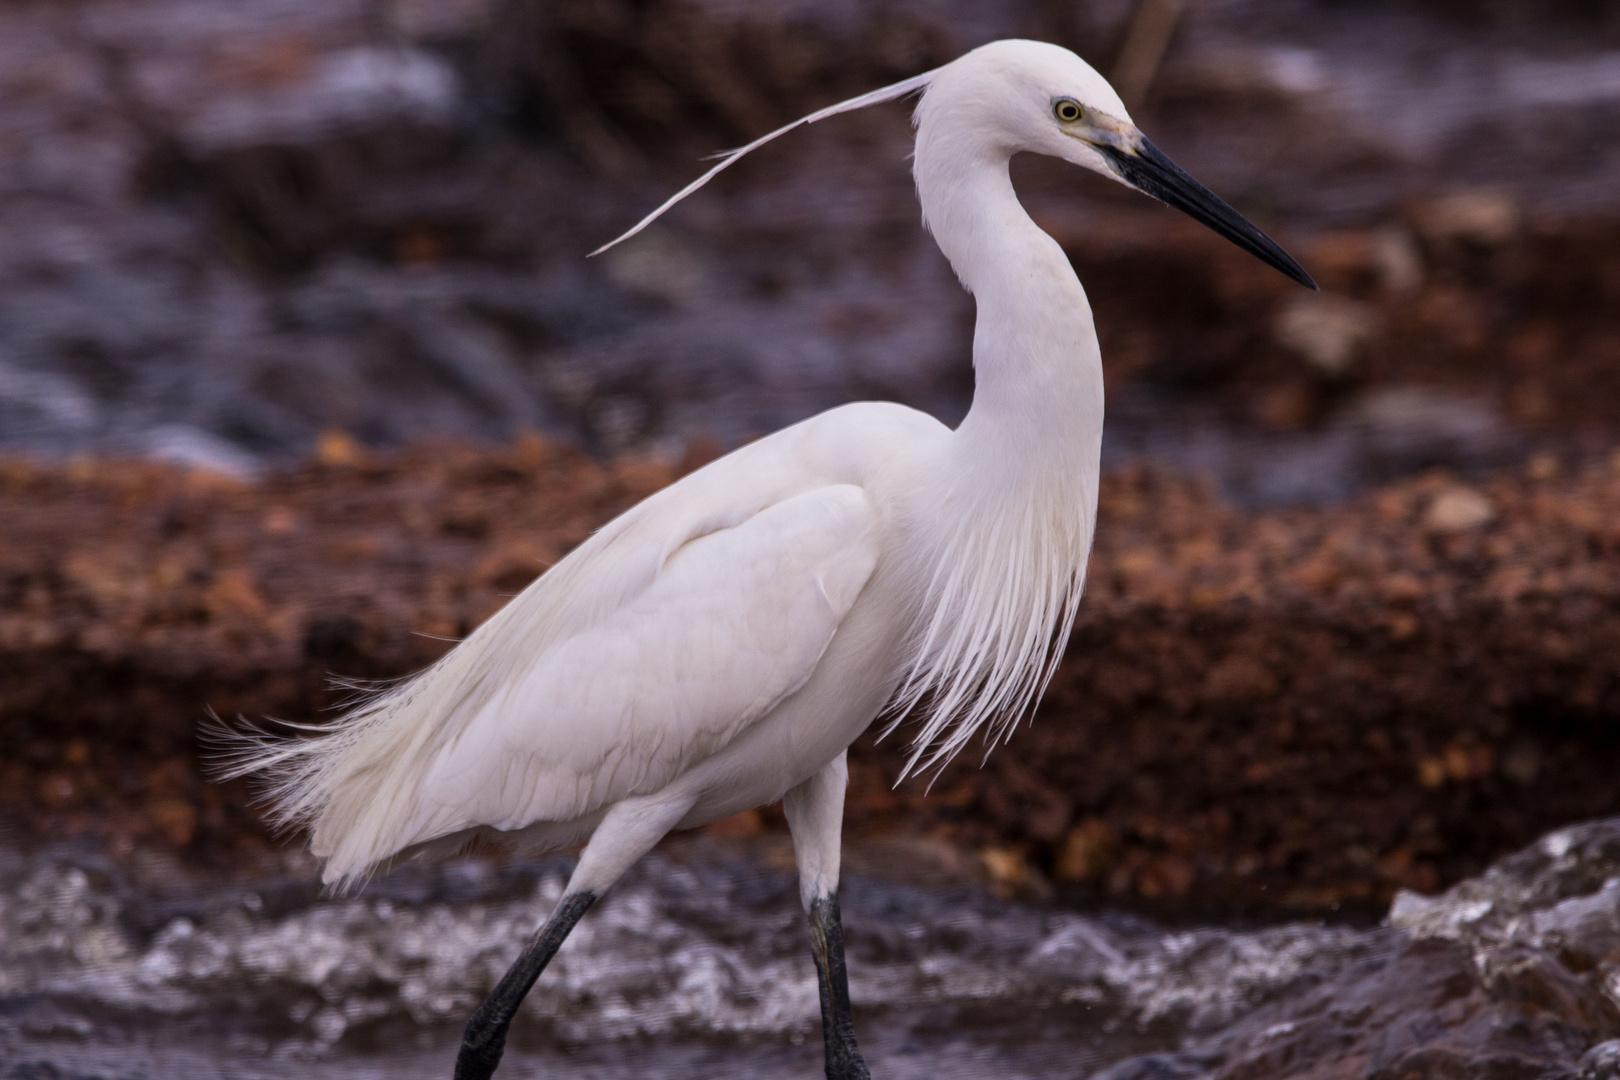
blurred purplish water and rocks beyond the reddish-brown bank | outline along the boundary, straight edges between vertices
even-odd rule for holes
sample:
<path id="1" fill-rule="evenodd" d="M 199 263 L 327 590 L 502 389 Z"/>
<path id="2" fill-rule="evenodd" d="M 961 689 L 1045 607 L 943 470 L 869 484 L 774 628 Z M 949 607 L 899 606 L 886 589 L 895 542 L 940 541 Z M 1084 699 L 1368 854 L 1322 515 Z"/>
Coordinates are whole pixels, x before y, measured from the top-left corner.
<path id="1" fill-rule="evenodd" d="M 980 42 L 1069 45 L 1324 282 L 1021 160 L 1105 340 L 1108 452 L 1247 504 L 1607 440 L 1604 0 L 151 0 L 0 6 L 0 445 L 249 474 L 539 429 L 676 458 L 852 398 L 966 408 L 907 110 L 701 167 Z"/>

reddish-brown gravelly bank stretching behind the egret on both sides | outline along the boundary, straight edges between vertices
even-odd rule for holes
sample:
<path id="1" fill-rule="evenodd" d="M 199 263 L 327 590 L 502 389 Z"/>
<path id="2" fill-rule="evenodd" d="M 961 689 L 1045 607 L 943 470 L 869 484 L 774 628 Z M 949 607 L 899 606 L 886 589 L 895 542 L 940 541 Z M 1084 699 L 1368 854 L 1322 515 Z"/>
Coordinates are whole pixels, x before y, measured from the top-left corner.
<path id="1" fill-rule="evenodd" d="M 695 452 L 688 463 L 697 463 Z M 157 465 L 0 470 L 5 829 L 235 860 L 272 840 L 204 784 L 198 725 L 309 719 L 429 662 L 677 468 L 539 439 L 246 484 Z M 1550 460 L 1332 510 L 1241 513 L 1105 479 L 1069 656 L 1030 725 L 925 793 L 854 751 L 857 847 L 956 852 L 1011 892 L 1165 915 L 1380 913 L 1615 813 L 1620 471 Z M 778 814 L 719 832 L 779 829 Z"/>

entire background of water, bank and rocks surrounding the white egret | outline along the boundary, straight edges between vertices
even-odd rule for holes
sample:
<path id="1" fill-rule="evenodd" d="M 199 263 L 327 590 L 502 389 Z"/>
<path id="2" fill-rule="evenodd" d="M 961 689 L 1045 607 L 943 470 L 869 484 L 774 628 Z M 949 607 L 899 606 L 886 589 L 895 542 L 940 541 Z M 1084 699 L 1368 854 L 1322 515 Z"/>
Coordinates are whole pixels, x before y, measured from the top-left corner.
<path id="1" fill-rule="evenodd" d="M 828 406 L 954 423 L 902 104 L 586 253 L 1011 36 L 1322 291 L 1014 162 L 1098 542 L 988 764 L 852 750 L 875 1072 L 1620 1075 L 1620 2 L 0 0 L 0 1077 L 447 1070 L 567 857 L 322 897 L 199 721 L 420 669 Z M 794 889 L 779 808 L 666 844 L 510 1074 L 816 1075 Z"/>

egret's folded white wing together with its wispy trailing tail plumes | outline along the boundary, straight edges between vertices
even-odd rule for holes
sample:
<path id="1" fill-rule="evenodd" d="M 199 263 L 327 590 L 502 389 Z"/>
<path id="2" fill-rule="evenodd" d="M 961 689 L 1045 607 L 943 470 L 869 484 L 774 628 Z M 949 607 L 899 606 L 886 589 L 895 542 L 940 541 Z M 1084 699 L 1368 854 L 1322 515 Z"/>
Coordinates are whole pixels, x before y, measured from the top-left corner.
<path id="1" fill-rule="evenodd" d="M 275 819 L 309 827 L 340 886 L 463 829 L 659 790 L 810 678 L 876 563 L 863 489 L 750 468 L 791 432 L 611 521 L 321 737 L 248 737 L 227 774 L 267 774 Z"/>

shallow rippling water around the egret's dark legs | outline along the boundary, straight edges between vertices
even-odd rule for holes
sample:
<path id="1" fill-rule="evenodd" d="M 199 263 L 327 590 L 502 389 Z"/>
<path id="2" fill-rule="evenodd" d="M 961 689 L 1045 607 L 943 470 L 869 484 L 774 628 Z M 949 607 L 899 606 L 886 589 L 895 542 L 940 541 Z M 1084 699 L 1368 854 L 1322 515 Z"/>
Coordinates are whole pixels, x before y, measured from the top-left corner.
<path id="1" fill-rule="evenodd" d="M 0 857 L 0 1057 L 13 1077 L 446 1075 L 460 1025 L 565 861 L 134 887 L 70 853 Z M 1173 1052 L 1387 952 L 1388 931 L 1165 931 L 857 878 L 857 1022 L 878 1075 L 1090 1075 Z M 580 925 L 502 1075 L 820 1074 L 794 878 L 654 855 Z"/>

